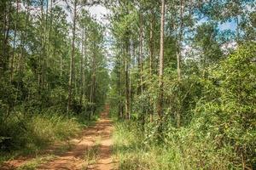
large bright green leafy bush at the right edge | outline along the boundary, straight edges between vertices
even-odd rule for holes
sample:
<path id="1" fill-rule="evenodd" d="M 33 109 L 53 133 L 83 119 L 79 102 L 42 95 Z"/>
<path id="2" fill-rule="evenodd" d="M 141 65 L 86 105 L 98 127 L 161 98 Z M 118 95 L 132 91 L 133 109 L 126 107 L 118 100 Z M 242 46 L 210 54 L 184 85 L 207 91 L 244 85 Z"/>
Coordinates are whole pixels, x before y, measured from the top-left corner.
<path id="1" fill-rule="evenodd" d="M 196 130 L 219 150 L 230 148 L 233 167 L 255 163 L 255 47 L 248 43 L 213 68 L 205 95 L 214 99 L 202 99 L 195 107 Z"/>

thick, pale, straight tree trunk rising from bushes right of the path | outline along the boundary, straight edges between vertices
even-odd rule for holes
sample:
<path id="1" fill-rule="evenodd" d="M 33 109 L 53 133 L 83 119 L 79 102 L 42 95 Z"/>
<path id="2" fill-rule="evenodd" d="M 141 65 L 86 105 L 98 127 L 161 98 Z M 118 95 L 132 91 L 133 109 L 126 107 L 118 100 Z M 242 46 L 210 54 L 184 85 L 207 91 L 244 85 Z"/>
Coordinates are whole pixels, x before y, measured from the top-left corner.
<path id="1" fill-rule="evenodd" d="M 160 63 L 159 63 L 159 102 L 158 102 L 158 116 L 160 123 L 162 121 L 162 105 L 163 105 L 163 73 L 164 73 L 164 38 L 165 38 L 165 6 L 166 0 L 161 0 L 161 20 L 160 20 Z"/>

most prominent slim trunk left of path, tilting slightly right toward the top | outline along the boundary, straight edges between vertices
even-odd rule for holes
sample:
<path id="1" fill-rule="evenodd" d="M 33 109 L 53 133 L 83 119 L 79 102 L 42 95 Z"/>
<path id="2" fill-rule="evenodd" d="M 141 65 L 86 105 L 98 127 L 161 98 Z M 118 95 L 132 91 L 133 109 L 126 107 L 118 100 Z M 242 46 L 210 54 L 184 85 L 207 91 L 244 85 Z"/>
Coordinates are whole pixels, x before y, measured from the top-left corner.
<path id="1" fill-rule="evenodd" d="M 73 12 L 73 39 L 72 39 L 72 55 L 70 59 L 70 70 L 69 70 L 69 82 L 68 82 L 68 99 L 67 99 L 67 112 L 71 108 L 72 104 L 72 84 L 73 84 L 73 59 L 75 53 L 75 37 L 76 37 L 76 20 L 77 20 L 77 0 L 74 0 L 74 12 Z"/>

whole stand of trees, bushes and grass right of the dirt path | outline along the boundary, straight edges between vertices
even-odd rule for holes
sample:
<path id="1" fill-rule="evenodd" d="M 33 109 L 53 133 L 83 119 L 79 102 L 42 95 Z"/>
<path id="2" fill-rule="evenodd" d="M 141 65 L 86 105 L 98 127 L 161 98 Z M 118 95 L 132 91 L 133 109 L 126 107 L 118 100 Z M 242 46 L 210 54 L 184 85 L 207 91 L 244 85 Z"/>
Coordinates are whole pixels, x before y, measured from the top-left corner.
<path id="1" fill-rule="evenodd" d="M 119 168 L 256 168 L 253 1 L 108 5 Z"/>

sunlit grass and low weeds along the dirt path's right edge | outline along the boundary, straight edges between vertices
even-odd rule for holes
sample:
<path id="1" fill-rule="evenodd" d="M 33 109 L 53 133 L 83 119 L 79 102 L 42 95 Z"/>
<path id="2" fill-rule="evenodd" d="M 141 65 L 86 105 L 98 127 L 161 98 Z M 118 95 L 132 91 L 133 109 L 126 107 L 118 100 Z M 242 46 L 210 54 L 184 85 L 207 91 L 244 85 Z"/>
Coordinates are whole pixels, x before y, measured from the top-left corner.
<path id="1" fill-rule="evenodd" d="M 119 170 L 230 169 L 228 150 L 223 154 L 210 141 L 196 141 L 189 131 L 166 134 L 166 141 L 158 142 L 139 129 L 135 122 L 115 123 L 113 153 Z"/>

